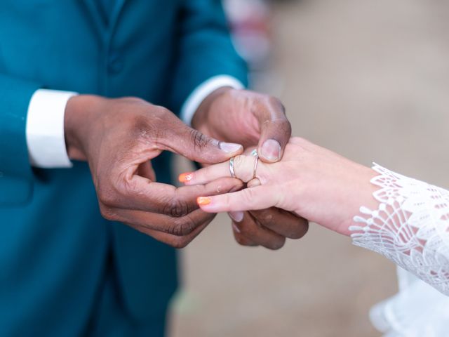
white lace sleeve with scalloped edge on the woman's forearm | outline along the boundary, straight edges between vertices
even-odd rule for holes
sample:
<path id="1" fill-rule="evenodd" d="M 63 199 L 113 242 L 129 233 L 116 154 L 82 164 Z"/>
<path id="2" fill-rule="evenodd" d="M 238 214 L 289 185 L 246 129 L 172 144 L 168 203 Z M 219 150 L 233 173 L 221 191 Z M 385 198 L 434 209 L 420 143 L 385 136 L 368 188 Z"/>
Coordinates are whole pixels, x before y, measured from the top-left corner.
<path id="1" fill-rule="evenodd" d="M 374 164 L 377 210 L 361 207 L 349 228 L 356 246 L 394 261 L 449 295 L 449 191 Z"/>

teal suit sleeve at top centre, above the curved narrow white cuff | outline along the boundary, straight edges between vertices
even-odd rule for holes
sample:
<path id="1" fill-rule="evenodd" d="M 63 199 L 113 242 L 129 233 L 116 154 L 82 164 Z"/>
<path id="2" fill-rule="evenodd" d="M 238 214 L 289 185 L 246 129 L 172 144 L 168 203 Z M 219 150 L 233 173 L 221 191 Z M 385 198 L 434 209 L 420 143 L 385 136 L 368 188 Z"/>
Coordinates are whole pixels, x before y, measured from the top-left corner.
<path id="1" fill-rule="evenodd" d="M 173 80 L 173 110 L 208 79 L 227 75 L 246 85 L 245 62 L 236 53 L 220 0 L 184 0 Z"/>

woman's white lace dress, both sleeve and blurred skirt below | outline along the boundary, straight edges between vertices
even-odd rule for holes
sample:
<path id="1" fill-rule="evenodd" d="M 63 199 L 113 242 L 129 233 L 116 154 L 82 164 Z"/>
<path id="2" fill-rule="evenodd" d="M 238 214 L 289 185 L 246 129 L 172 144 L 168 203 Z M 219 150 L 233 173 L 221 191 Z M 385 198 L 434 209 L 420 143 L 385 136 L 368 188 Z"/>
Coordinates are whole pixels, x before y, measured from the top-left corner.
<path id="1" fill-rule="evenodd" d="M 377 210 L 361 207 L 354 244 L 398 265 L 399 292 L 370 312 L 385 337 L 449 336 L 449 191 L 375 164 Z"/>

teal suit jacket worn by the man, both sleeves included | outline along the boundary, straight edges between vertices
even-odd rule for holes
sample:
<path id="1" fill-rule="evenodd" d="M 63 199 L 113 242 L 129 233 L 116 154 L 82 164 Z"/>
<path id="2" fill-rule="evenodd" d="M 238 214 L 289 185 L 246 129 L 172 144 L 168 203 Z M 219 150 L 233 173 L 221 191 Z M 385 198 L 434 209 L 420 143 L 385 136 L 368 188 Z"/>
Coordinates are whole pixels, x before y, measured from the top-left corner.
<path id="1" fill-rule="evenodd" d="M 144 98 L 174 112 L 203 81 L 246 81 L 217 0 L 0 1 L 0 335 L 79 336 L 114 278 L 123 315 L 161 315 L 175 251 L 100 216 L 85 163 L 33 169 L 27 107 L 38 88 Z M 170 156 L 154 160 L 170 182 Z M 106 272 L 107 265 L 112 272 Z"/>

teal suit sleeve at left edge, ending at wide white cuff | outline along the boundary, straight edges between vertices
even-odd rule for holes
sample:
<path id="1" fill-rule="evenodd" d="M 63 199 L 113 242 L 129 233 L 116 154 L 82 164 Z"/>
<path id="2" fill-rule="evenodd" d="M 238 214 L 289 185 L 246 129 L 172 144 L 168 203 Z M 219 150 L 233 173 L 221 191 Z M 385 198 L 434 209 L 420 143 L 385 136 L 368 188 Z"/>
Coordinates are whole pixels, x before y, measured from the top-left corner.
<path id="1" fill-rule="evenodd" d="M 27 201 L 32 192 L 26 124 L 29 100 L 41 87 L 0 74 L 0 206 Z"/>

